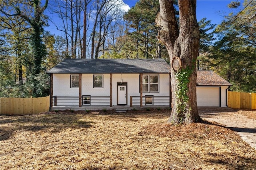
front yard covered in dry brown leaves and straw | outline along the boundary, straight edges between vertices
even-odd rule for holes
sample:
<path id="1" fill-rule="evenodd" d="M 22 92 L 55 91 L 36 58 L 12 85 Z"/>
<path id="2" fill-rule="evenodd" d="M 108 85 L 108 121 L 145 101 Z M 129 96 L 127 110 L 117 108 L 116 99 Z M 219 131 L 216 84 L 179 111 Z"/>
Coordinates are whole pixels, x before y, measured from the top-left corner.
<path id="1" fill-rule="evenodd" d="M 170 110 L 1 116 L 2 169 L 256 169 L 235 132 L 198 123 L 171 127 Z"/>

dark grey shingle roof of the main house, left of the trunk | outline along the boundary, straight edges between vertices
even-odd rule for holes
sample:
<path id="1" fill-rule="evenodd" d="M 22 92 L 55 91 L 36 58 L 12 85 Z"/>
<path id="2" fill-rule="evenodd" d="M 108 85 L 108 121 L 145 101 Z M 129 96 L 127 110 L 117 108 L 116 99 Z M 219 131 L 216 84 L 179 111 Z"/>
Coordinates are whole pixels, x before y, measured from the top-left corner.
<path id="1" fill-rule="evenodd" d="M 164 59 L 64 59 L 47 73 L 170 73 Z"/>

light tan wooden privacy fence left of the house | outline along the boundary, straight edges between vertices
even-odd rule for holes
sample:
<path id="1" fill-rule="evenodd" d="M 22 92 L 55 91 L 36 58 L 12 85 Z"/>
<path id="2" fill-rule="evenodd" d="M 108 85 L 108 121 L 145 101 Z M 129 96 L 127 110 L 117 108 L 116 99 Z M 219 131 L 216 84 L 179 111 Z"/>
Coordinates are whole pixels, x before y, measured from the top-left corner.
<path id="1" fill-rule="evenodd" d="M 50 96 L 38 98 L 0 98 L 0 113 L 4 115 L 31 115 L 49 111 Z"/>

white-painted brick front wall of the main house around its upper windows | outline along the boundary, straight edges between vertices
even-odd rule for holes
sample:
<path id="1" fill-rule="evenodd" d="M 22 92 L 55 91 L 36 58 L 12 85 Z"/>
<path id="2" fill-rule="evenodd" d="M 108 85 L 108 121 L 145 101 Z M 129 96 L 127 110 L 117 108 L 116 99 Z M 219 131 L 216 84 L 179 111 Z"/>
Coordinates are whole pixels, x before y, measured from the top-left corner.
<path id="1" fill-rule="evenodd" d="M 103 74 L 103 88 L 93 88 L 93 75 L 82 74 L 82 95 L 110 96 L 110 74 Z M 127 82 L 127 105 L 130 105 L 130 96 L 140 96 L 139 75 L 136 73 L 122 74 L 123 82 Z M 143 96 L 169 96 L 169 74 L 157 75 L 159 75 L 159 93 L 143 93 Z M 117 82 L 120 81 L 121 74 L 112 75 L 112 105 L 117 105 Z M 53 96 L 79 96 L 78 88 L 70 88 L 70 74 L 53 75 Z"/>

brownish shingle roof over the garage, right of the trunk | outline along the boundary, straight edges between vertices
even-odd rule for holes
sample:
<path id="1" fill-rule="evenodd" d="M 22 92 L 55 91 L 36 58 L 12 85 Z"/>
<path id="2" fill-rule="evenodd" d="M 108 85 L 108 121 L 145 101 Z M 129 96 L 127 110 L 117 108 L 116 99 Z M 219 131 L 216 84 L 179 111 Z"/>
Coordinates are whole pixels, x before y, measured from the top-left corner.
<path id="1" fill-rule="evenodd" d="M 197 79 L 196 84 L 198 86 L 232 86 L 224 78 L 210 70 L 196 71 Z"/>

